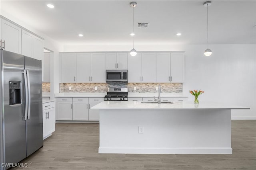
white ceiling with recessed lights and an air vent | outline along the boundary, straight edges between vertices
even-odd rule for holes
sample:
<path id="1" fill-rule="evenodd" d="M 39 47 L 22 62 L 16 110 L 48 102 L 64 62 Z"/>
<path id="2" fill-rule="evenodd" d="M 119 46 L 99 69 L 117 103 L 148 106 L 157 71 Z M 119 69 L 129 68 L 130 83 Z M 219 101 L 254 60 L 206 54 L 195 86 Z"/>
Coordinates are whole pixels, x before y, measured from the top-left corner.
<path id="1" fill-rule="evenodd" d="M 137 0 L 135 44 L 206 44 L 206 0 Z M 131 0 L 3 1 L 10 12 L 62 45 L 132 44 Z M 54 4 L 50 9 L 47 3 Z M 214 0 L 208 7 L 210 44 L 255 44 L 256 1 Z M 148 22 L 148 28 L 137 28 Z M 177 36 L 176 33 L 182 33 Z M 78 37 L 78 34 L 84 37 Z"/>

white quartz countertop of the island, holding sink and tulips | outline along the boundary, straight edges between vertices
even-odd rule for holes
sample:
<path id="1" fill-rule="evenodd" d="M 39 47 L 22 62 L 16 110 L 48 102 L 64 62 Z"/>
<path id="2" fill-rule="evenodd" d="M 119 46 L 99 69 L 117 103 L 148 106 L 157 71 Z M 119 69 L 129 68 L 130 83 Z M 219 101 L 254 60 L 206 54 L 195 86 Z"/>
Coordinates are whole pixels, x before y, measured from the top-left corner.
<path id="1" fill-rule="evenodd" d="M 140 101 L 104 101 L 91 109 L 250 109 L 216 102 L 175 102 L 174 104 L 142 104 Z"/>

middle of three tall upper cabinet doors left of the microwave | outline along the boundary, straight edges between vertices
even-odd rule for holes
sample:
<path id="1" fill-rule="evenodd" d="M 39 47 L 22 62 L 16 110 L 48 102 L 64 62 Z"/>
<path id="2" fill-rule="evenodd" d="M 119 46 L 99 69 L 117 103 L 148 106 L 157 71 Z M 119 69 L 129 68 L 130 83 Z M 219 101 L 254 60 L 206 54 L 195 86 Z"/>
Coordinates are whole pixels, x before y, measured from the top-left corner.
<path id="1" fill-rule="evenodd" d="M 91 82 L 91 53 L 76 54 L 76 82 Z"/>

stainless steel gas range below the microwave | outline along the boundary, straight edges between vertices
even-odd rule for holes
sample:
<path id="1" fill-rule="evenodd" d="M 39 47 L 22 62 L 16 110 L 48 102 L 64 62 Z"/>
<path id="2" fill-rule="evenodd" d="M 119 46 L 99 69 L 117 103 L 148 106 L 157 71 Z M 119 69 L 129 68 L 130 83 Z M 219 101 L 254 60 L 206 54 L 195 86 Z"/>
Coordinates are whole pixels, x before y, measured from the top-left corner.
<path id="1" fill-rule="evenodd" d="M 110 87 L 108 88 L 108 93 L 104 97 L 104 100 L 116 101 L 116 100 L 128 100 L 128 88 L 125 87 Z"/>

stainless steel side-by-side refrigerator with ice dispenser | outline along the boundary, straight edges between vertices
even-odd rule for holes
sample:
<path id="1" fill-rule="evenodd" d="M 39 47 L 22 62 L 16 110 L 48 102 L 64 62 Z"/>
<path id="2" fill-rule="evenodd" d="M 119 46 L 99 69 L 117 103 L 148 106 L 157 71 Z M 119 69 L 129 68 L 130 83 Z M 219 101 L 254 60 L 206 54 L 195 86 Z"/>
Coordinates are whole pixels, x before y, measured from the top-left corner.
<path id="1" fill-rule="evenodd" d="M 43 146 L 41 61 L 0 49 L 0 169 Z"/>

